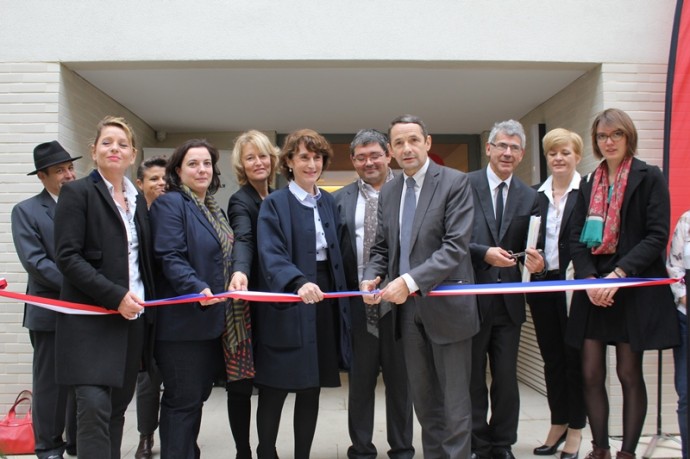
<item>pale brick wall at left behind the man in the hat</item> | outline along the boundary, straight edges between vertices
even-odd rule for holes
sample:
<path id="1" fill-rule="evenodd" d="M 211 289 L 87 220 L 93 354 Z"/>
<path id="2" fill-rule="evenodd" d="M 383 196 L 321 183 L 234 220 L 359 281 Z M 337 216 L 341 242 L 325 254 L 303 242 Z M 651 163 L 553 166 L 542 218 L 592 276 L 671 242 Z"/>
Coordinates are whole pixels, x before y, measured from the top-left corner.
<path id="1" fill-rule="evenodd" d="M 15 203 L 41 190 L 33 170 L 33 147 L 58 135 L 60 66 L 0 64 L 0 276 L 8 289 L 24 292 L 26 274 L 12 243 L 10 212 Z M 0 410 L 31 387 L 31 345 L 21 326 L 24 306 L 0 301 Z"/>

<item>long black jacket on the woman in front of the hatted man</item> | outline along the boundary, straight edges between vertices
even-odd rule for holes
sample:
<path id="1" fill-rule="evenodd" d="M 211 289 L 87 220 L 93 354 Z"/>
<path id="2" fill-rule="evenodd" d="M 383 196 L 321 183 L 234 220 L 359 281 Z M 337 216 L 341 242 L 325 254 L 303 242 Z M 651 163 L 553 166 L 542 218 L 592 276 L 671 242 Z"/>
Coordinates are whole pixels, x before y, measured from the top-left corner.
<path id="1" fill-rule="evenodd" d="M 137 197 L 134 222 L 145 299 L 153 299 L 151 237 L 142 194 Z M 62 187 L 55 209 L 56 262 L 63 274 L 61 299 L 117 310 L 129 291 L 128 249 L 120 213 L 98 171 Z M 55 335 L 57 382 L 122 387 L 133 325 L 119 314 L 60 314 Z"/>

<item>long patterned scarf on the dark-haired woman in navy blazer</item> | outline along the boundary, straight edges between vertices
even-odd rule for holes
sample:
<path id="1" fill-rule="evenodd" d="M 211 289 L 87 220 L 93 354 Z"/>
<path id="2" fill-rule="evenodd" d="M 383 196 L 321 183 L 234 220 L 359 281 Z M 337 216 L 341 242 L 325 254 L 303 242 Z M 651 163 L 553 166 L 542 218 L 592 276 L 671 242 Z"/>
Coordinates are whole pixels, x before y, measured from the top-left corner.
<path id="1" fill-rule="evenodd" d="M 182 185 L 182 192 L 189 196 L 197 208 L 204 214 L 208 222 L 213 227 L 220 241 L 220 247 L 223 252 L 223 279 L 225 284 L 225 290 L 228 289 L 230 284 L 230 274 L 232 268 L 231 252 L 232 245 L 235 241 L 235 235 L 230 228 L 228 219 L 225 218 L 225 214 L 218 206 L 218 203 L 213 196 L 206 194 L 206 199 L 204 202 L 197 197 L 192 190 L 186 186 Z M 220 293 L 220 292 L 217 292 Z M 227 301 L 225 303 L 225 333 L 223 334 L 224 345 L 227 346 L 233 352 L 237 351 L 237 347 L 240 343 L 249 339 L 249 333 L 247 331 L 247 326 L 245 323 L 244 307 L 240 303 L 235 303 L 233 301 Z"/>

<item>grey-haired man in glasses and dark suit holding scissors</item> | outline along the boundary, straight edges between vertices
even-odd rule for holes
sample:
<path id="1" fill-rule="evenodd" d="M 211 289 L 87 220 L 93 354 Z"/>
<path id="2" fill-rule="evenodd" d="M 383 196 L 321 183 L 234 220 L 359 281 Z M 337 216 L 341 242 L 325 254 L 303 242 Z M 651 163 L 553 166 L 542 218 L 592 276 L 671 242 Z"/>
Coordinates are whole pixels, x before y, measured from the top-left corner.
<path id="1" fill-rule="evenodd" d="M 518 257 L 531 273 L 544 269 L 535 248 L 525 248 L 529 220 L 538 215 L 537 192 L 513 176 L 525 153 L 525 132 L 514 120 L 496 123 L 486 143 L 489 165 L 469 174 L 474 190 L 472 264 L 478 284 L 520 282 Z M 513 458 L 520 394 L 517 352 L 525 321 L 524 295 L 479 295 L 482 325 L 472 340 L 472 457 Z M 491 367 L 491 419 L 487 422 L 487 356 Z"/>

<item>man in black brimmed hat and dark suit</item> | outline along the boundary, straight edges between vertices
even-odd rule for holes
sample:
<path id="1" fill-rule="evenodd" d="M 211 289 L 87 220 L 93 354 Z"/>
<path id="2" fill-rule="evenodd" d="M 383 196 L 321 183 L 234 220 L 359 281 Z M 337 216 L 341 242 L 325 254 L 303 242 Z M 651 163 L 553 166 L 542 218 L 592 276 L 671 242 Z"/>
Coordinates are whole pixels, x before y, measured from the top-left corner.
<path id="1" fill-rule="evenodd" d="M 76 178 L 73 161 L 79 158 L 81 156 L 71 157 L 57 140 L 38 145 L 34 149 L 36 170 L 28 175 L 38 176 L 43 191 L 12 209 L 12 238 L 19 261 L 29 275 L 26 288 L 29 295 L 60 297 L 62 274 L 54 261 L 53 215 L 60 188 Z M 34 348 L 32 414 L 35 451 L 41 459 L 62 457 L 66 446 L 74 453 L 76 447 L 76 439 L 73 438 L 69 445 L 62 439 L 66 420 L 71 424 L 68 437 L 76 435 L 76 421 L 74 410 L 67 409 L 68 387 L 55 382 L 57 315 L 57 312 L 29 303 L 24 306 L 24 326 L 29 329 Z"/>

